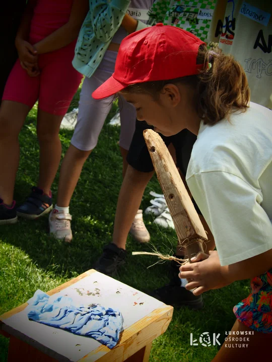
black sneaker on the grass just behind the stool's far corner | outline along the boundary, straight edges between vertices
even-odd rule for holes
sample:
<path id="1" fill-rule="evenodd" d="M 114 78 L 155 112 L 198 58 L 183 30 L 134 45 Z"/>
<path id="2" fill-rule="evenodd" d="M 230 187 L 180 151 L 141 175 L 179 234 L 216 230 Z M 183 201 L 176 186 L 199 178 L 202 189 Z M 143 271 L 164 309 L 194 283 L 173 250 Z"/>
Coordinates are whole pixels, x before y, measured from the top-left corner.
<path id="1" fill-rule="evenodd" d="M 125 263 L 127 251 L 118 248 L 113 243 L 104 246 L 103 254 L 94 265 L 94 269 L 98 272 L 112 276 L 117 266 Z"/>

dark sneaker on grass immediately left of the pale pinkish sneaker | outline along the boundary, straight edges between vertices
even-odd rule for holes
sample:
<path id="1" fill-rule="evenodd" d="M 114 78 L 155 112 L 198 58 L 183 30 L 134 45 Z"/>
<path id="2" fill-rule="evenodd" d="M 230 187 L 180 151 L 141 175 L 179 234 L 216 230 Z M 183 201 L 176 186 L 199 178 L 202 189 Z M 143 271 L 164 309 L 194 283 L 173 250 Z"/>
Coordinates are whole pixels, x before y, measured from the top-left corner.
<path id="1" fill-rule="evenodd" d="M 37 219 L 52 210 L 52 197 L 45 195 L 43 190 L 33 186 L 31 194 L 23 205 L 17 209 L 17 215 L 25 219 Z"/>

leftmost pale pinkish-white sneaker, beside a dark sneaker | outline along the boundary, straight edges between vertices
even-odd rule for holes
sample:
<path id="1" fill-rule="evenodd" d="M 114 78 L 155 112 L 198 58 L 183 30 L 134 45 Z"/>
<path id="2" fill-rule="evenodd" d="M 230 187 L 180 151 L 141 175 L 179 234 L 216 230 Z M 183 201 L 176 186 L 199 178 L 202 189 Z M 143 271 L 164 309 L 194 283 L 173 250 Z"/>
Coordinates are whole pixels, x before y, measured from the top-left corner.
<path id="1" fill-rule="evenodd" d="M 49 233 L 57 239 L 64 239 L 71 242 L 73 234 L 71 230 L 72 215 L 56 212 L 52 210 L 49 215 Z"/>

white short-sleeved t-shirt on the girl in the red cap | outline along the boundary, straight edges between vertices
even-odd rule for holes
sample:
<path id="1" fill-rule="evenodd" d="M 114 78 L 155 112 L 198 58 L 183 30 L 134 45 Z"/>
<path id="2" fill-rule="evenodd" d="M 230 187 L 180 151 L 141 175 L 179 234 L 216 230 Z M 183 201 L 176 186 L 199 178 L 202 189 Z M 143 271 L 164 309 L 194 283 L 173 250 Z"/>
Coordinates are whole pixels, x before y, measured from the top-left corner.
<path id="1" fill-rule="evenodd" d="M 230 122 L 201 122 L 186 180 L 221 265 L 272 249 L 271 110 L 250 103 Z"/>

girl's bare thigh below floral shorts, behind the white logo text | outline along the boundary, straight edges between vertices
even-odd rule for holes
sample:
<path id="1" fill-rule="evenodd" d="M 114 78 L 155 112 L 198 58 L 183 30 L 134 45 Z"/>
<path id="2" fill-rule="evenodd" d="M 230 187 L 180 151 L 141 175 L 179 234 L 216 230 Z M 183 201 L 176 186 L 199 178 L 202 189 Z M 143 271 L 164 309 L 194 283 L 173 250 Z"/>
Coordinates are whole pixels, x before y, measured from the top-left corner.
<path id="1" fill-rule="evenodd" d="M 239 335 L 228 335 L 227 338 L 231 338 L 231 341 L 225 341 L 220 351 L 217 353 L 212 362 L 240 362 L 240 361 L 253 361 L 253 360 L 264 360 L 267 358 L 271 360 L 271 349 L 272 333 L 261 333 L 256 332 L 245 326 L 241 322 L 236 320 L 232 327 L 232 331 L 239 332 Z M 253 331 L 253 335 L 252 335 Z M 244 332 L 244 335 L 240 335 L 240 332 Z M 247 332 L 247 335 L 245 335 Z M 250 332 L 250 334 L 248 334 Z M 242 337 L 245 341 L 232 341 L 232 338 Z M 248 338 L 248 340 L 247 340 Z M 235 344 L 237 346 L 235 347 Z M 238 344 L 248 344 L 248 346 L 238 346 Z M 234 347 L 230 346 L 234 344 Z"/>

